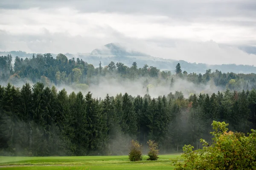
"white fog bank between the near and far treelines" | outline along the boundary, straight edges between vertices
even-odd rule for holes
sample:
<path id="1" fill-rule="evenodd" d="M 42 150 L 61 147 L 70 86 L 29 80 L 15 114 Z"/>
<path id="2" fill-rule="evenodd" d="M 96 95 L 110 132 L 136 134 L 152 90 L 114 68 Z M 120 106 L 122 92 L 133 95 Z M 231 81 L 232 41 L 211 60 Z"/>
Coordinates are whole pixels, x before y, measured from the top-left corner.
<path id="1" fill-rule="evenodd" d="M 171 80 L 166 81 L 146 78 L 120 80 L 113 78 L 108 79 L 105 77 L 99 77 L 98 79 L 99 84 L 90 84 L 87 90 L 81 90 L 83 94 L 90 91 L 95 98 L 105 98 L 107 94 L 109 94 L 109 96 L 116 96 L 116 94 L 120 93 L 128 93 L 131 96 L 144 96 L 145 94 L 149 94 L 151 97 L 157 98 L 158 96 L 167 96 L 170 92 L 174 94 L 175 91 L 182 91 L 184 97 L 188 97 L 191 94 L 212 94 L 225 90 L 224 88 L 216 87 L 212 81 L 209 81 L 206 85 L 198 85 L 180 78 L 176 78 L 172 86 Z M 71 93 L 72 91 L 77 93 L 80 91 L 79 89 L 69 85 L 58 85 L 56 88 L 58 91 L 65 88 L 68 93 Z"/>

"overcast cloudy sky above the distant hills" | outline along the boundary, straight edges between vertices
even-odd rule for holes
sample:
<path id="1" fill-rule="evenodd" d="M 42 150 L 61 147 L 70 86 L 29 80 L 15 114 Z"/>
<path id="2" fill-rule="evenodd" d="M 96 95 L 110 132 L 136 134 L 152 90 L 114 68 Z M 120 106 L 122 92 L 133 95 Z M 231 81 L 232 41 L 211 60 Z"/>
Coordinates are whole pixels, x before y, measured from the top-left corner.
<path id="1" fill-rule="evenodd" d="M 117 42 L 166 59 L 256 65 L 255 0 L 1 0 L 0 18 L 0 51 L 89 53 Z"/>

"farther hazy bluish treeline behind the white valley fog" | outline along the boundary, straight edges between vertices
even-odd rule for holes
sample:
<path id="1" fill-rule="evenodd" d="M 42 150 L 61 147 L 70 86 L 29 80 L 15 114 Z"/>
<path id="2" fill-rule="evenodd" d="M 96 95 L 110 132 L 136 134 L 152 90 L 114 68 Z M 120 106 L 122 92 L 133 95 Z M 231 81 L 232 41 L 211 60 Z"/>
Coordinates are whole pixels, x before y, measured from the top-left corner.
<path id="1" fill-rule="evenodd" d="M 175 73 L 170 71 L 160 71 L 156 67 L 145 64 L 143 68 L 137 68 L 137 63 L 133 62 L 131 67 L 121 62 L 111 61 L 108 65 L 95 67 L 82 59 L 68 59 L 63 54 L 58 54 L 53 58 L 51 54 L 37 54 L 31 58 L 15 57 L 14 68 L 11 65 L 12 56 L 0 57 L 0 80 L 11 82 L 16 85 L 19 80 L 44 82 L 47 85 L 55 84 L 97 84 L 100 77 L 113 78 L 115 75 L 121 79 L 140 79 L 141 77 L 163 80 L 168 85 L 172 85 L 175 79 L 186 79 L 195 84 L 207 84 L 212 82 L 214 85 L 230 90 L 242 91 L 256 88 L 256 74 L 234 74 L 222 73 L 208 69 L 205 74 L 188 73 L 181 69 L 177 64 Z M 25 81 L 25 82 L 26 82 Z"/>

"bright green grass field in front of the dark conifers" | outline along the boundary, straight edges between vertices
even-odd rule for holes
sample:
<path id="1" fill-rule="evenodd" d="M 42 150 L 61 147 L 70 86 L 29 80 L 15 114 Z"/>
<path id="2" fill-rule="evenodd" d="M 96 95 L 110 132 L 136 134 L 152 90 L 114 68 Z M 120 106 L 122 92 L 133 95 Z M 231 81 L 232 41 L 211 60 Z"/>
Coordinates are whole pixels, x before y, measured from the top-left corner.
<path id="1" fill-rule="evenodd" d="M 171 159 L 180 154 L 160 155 L 157 161 L 131 162 L 128 156 L 0 156 L 1 170 L 173 170 Z"/>

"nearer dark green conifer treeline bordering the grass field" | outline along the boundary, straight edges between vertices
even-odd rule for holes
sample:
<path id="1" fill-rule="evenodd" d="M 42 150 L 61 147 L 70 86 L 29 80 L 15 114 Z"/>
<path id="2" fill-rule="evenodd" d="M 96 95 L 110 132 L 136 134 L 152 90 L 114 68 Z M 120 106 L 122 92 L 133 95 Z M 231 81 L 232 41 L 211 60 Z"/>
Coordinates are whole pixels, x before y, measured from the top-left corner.
<path id="1" fill-rule="evenodd" d="M 255 129 L 256 91 L 184 98 L 176 91 L 151 98 L 118 94 L 95 99 L 38 82 L 0 86 L 0 154 L 26 156 L 122 155 L 131 139 L 159 144 L 161 153 L 211 139 L 213 120 L 230 130 Z"/>

